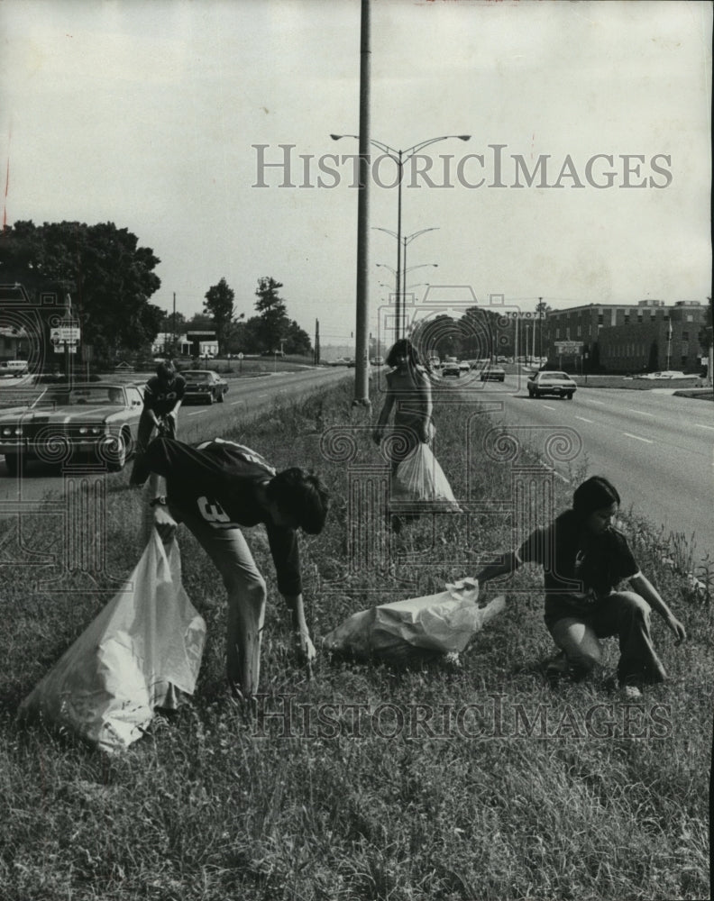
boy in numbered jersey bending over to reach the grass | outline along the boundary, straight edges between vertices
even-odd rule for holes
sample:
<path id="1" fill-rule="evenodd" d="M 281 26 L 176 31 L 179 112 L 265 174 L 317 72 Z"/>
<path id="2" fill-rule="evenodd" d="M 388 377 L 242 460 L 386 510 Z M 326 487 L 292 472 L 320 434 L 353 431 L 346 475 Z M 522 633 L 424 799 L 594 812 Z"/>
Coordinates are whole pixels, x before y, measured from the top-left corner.
<path id="1" fill-rule="evenodd" d="M 296 649 L 309 665 L 316 652 L 305 621 L 297 530 L 323 530 L 329 496 L 320 479 L 298 468 L 276 472 L 257 451 L 220 438 L 197 447 L 157 438 L 142 457 L 138 484 L 150 472 L 150 505 L 161 538 L 168 540 L 177 523 L 185 523 L 223 578 L 231 687 L 246 697 L 258 687 L 265 616 L 265 579 L 242 526 L 265 525 Z"/>

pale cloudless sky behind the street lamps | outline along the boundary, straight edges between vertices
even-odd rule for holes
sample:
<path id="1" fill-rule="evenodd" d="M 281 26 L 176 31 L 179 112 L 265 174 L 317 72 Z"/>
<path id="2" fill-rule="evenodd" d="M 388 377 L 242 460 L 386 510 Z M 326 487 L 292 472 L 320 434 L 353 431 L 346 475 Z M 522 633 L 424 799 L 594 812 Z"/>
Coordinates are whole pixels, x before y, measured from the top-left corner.
<path id="1" fill-rule="evenodd" d="M 371 0 L 371 138 L 470 135 L 403 169 L 416 302 L 705 303 L 711 23 L 697 2 Z M 6 223 L 129 229 L 160 258 L 152 303 L 187 316 L 221 278 L 250 316 L 276 278 L 291 318 L 349 343 L 358 141 L 330 135 L 360 128 L 359 0 L 3 0 L 0 47 Z M 371 179 L 371 329 L 396 173 Z"/>

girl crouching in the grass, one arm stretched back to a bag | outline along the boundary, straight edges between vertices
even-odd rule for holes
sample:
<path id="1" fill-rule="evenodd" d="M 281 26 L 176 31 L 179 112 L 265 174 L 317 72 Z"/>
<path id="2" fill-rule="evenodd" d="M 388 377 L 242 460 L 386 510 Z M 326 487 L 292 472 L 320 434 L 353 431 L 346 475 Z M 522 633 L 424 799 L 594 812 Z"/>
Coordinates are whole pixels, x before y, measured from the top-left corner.
<path id="1" fill-rule="evenodd" d="M 560 655 L 546 669 L 550 678 L 583 678 L 600 664 L 600 639 L 617 635 L 618 683 L 628 698 L 663 682 L 666 672 L 650 633 L 654 608 L 680 644 L 687 636 L 652 583 L 640 572 L 627 539 L 613 526 L 620 497 L 601 476 L 576 488 L 572 509 L 536 529 L 503 563 L 481 570 L 479 582 L 513 572 L 523 563 L 544 569 L 545 625 Z M 619 590 L 627 580 L 632 590 Z"/>

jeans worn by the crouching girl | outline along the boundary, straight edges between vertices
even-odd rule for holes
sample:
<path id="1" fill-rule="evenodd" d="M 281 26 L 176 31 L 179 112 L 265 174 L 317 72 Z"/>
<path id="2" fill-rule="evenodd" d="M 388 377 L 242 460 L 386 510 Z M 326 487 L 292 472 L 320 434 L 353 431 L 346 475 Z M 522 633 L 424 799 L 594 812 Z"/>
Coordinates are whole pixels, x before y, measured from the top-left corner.
<path id="1" fill-rule="evenodd" d="M 650 613 L 650 605 L 634 591 L 618 591 L 601 600 L 591 613 L 546 624 L 568 662 L 584 672 L 602 662 L 599 639 L 617 635 L 620 685 L 652 685 L 664 682 L 667 673 L 652 642 Z"/>

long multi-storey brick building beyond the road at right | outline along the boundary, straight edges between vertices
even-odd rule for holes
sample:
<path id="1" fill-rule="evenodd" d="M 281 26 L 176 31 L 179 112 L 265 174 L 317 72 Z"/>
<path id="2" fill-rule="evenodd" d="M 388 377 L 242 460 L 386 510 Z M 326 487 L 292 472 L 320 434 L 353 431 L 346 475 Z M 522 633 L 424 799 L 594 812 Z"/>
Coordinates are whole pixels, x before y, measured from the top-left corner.
<path id="1" fill-rule="evenodd" d="M 655 369 L 698 371 L 699 332 L 707 308 L 699 301 L 643 300 L 636 305 L 588 304 L 549 310 L 544 344 L 555 359 L 555 341 L 581 341 L 585 369 L 644 372 Z M 563 367 L 574 368 L 573 359 Z"/>

